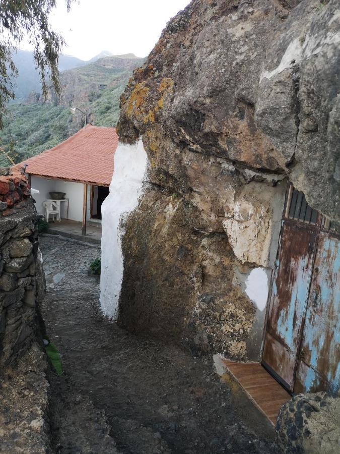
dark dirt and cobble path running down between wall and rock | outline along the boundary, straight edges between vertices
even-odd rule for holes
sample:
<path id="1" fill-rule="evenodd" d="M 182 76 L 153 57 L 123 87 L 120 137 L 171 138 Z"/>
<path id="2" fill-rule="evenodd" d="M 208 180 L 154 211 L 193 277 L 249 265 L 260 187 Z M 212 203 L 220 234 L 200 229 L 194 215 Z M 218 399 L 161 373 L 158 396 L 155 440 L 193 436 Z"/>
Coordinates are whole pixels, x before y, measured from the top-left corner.
<path id="1" fill-rule="evenodd" d="M 274 430 L 219 380 L 210 357 L 133 336 L 102 315 L 99 281 L 87 275 L 99 248 L 44 236 L 41 250 L 42 315 L 64 369 L 51 377 L 57 452 L 277 452 Z"/>

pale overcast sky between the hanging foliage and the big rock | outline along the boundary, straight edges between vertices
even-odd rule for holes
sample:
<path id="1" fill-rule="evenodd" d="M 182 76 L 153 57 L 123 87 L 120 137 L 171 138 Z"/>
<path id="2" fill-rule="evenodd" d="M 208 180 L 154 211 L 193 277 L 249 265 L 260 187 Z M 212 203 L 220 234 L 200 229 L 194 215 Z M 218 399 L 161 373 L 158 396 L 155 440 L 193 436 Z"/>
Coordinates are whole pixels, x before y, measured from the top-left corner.
<path id="1" fill-rule="evenodd" d="M 146 56 L 169 19 L 189 0 L 76 0 L 70 13 L 64 0 L 51 15 L 53 28 L 62 33 L 63 53 L 89 60 L 102 50 Z"/>

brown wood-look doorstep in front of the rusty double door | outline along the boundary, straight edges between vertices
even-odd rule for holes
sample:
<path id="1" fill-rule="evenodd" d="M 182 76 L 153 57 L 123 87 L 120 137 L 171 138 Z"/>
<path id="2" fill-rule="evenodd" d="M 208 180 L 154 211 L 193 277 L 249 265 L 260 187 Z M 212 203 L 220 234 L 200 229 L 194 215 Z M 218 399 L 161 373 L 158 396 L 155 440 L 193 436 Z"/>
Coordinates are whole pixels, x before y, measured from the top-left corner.
<path id="1" fill-rule="evenodd" d="M 238 363 L 226 359 L 222 359 L 222 362 L 249 399 L 275 425 L 280 408 L 291 400 L 292 396 L 260 363 Z"/>

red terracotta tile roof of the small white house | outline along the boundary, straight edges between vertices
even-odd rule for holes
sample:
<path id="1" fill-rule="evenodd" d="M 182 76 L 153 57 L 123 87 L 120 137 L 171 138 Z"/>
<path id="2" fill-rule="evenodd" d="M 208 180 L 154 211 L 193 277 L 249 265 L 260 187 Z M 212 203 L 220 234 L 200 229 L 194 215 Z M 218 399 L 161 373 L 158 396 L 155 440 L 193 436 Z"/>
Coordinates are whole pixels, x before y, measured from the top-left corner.
<path id="1" fill-rule="evenodd" d="M 87 125 L 50 150 L 22 161 L 26 173 L 106 186 L 113 174 L 113 154 L 118 136 L 115 128 Z"/>

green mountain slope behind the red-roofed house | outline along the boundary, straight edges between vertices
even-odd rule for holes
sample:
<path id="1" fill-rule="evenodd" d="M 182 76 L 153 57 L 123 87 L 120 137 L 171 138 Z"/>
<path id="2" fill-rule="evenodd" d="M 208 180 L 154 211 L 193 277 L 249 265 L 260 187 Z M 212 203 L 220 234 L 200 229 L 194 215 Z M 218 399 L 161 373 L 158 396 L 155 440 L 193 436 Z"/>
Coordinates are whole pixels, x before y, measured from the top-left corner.
<path id="1" fill-rule="evenodd" d="M 89 112 L 95 126 L 115 126 L 119 118 L 119 97 L 133 68 L 143 59 L 133 54 L 106 56 L 94 63 L 60 73 L 61 95 L 49 86 L 43 101 L 37 92 L 25 102 L 12 104 L 0 131 L 0 146 L 15 162 L 41 153 L 70 137 L 84 126 L 85 116 L 70 107 Z M 0 165 L 9 165 L 2 153 Z"/>

